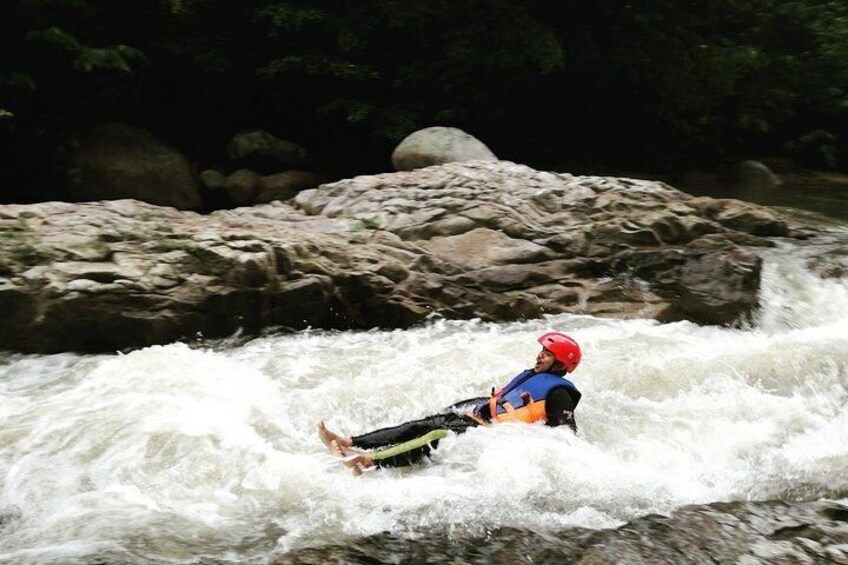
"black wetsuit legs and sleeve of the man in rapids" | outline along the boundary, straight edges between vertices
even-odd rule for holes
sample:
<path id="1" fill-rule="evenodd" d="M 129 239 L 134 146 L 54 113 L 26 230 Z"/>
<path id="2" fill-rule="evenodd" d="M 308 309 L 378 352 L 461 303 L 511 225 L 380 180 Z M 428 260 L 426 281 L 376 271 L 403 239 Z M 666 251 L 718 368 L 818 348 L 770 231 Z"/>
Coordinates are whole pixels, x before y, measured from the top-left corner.
<path id="1" fill-rule="evenodd" d="M 463 400 L 452 406 L 449 406 L 442 412 L 421 418 L 420 420 L 412 420 L 405 422 L 399 426 L 383 428 L 375 430 L 361 436 L 351 438 L 353 446 L 360 449 L 377 449 L 388 447 L 411 441 L 432 432 L 433 430 L 448 430 L 457 434 L 465 432 L 468 428 L 473 428 L 479 423 L 465 414 L 475 406 L 482 405 L 480 417 L 483 420 L 490 421 L 488 398 L 471 398 Z M 548 426 L 569 426 L 575 432 L 577 431 L 577 423 L 574 421 L 575 399 L 566 388 L 553 389 L 545 399 L 545 412 L 547 417 L 546 425 Z M 438 446 L 438 441 L 432 442 L 432 447 Z M 400 467 L 403 465 L 411 465 L 421 458 L 430 455 L 431 445 L 424 445 L 405 451 L 393 457 L 387 457 L 379 461 L 375 461 L 378 467 Z"/>

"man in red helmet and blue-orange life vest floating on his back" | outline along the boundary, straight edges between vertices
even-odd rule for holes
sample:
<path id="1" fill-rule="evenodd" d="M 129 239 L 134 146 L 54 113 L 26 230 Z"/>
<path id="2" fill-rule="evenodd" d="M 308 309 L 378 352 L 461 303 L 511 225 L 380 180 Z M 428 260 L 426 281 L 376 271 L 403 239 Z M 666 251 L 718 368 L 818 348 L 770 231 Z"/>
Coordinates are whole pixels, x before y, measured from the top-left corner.
<path id="1" fill-rule="evenodd" d="M 494 422 L 544 422 L 548 426 L 566 425 L 576 432 L 574 409 L 581 395 L 565 375 L 580 364 L 580 346 L 559 332 L 548 332 L 538 341 L 542 350 L 533 368 L 519 373 L 499 391 L 493 388 L 489 398 L 464 400 L 439 414 L 355 437 L 331 431 L 322 420 L 318 422 L 318 437 L 353 469 L 354 475 L 360 475 L 363 469 L 374 466 L 410 465 L 428 456 L 430 445 L 435 448 L 449 431 L 461 434 Z"/>

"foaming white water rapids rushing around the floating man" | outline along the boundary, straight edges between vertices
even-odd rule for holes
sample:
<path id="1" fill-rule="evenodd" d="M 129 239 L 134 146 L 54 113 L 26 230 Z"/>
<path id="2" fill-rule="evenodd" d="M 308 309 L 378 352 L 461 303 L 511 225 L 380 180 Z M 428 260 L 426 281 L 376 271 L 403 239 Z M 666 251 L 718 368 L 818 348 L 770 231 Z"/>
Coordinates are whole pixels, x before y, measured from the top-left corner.
<path id="1" fill-rule="evenodd" d="M 799 248 L 800 249 L 800 248 Z M 356 479 L 346 433 L 485 395 L 544 330 L 584 360 L 580 427 L 449 437 Z M 263 562 L 382 531 L 614 527 L 688 503 L 848 496 L 848 283 L 766 253 L 746 328 L 562 315 L 0 362 L 0 562 Z"/>

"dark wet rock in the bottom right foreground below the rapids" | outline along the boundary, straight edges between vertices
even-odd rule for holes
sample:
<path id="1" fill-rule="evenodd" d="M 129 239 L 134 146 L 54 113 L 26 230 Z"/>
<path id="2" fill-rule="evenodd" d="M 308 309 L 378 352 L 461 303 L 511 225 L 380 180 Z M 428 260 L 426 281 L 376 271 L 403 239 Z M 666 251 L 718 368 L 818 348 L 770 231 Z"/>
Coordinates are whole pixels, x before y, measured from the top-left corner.
<path id="1" fill-rule="evenodd" d="M 848 563 L 848 507 L 731 502 L 686 506 L 614 530 L 503 528 L 485 537 L 459 532 L 413 539 L 385 533 L 302 549 L 273 563 Z"/>

